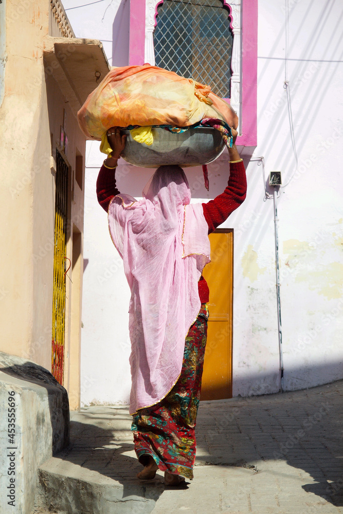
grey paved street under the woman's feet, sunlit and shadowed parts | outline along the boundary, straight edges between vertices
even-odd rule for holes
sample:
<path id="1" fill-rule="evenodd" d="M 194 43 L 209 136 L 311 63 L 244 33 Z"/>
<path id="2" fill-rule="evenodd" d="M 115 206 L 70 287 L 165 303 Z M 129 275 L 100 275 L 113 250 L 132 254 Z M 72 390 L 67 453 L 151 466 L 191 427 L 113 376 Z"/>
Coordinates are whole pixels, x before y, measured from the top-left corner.
<path id="1" fill-rule="evenodd" d="M 305 391 L 201 402 L 194 480 L 182 489 L 165 488 L 160 472 L 155 480 L 138 483 L 141 466 L 122 406 L 71 413 L 73 446 L 54 462 L 75 483 L 83 480 L 90 489 L 97 484 L 92 501 L 116 488 L 120 500 L 111 501 L 118 513 L 335 514 L 343 512 L 342 395 L 339 381 Z"/>

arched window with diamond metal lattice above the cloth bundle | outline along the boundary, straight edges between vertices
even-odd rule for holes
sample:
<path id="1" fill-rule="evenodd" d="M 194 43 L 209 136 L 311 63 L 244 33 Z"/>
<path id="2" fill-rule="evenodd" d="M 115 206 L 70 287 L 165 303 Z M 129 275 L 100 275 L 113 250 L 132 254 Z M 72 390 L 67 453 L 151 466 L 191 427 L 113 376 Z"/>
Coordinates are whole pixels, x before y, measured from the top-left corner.
<path id="1" fill-rule="evenodd" d="M 221 0 L 164 0 L 157 7 L 155 64 L 230 97 L 232 32 Z"/>

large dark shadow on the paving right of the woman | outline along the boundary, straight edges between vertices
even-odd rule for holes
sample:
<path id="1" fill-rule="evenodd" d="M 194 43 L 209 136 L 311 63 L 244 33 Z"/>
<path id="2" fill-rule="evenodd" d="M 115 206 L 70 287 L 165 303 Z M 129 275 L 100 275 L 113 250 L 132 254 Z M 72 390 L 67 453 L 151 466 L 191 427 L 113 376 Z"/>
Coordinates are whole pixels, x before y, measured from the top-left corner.
<path id="1" fill-rule="evenodd" d="M 283 460 L 303 485 L 343 506 L 343 382 L 263 397 L 201 402 L 197 462 L 252 469 Z M 304 472 L 304 473 L 303 473 Z"/>

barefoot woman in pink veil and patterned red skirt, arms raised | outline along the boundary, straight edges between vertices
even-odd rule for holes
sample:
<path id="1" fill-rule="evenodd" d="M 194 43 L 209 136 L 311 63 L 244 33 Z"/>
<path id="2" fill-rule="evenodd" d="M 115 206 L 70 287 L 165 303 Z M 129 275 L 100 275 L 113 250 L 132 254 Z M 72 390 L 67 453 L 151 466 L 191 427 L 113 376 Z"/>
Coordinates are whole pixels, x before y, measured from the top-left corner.
<path id="1" fill-rule="evenodd" d="M 178 166 L 160 166 L 143 198 L 120 194 L 115 169 L 125 146 L 120 127 L 107 131 L 112 156 L 97 180 L 97 196 L 123 259 L 131 289 L 130 413 L 139 479 L 157 469 L 165 483 L 193 478 L 195 420 L 207 337 L 209 290 L 202 276 L 210 261 L 208 234 L 246 196 L 246 176 L 231 129 L 230 176 L 225 191 L 206 204 L 190 204 Z"/>

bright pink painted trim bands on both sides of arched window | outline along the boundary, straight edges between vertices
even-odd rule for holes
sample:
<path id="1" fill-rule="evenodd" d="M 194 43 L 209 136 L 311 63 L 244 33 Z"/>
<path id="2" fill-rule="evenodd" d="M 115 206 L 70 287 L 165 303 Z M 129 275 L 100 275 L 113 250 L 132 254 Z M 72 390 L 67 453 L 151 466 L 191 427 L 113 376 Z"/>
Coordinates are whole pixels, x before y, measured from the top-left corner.
<path id="1" fill-rule="evenodd" d="M 164 0 L 158 2 L 157 7 Z M 242 1 L 242 135 L 237 144 L 243 146 L 257 145 L 257 2 Z M 231 14 L 231 7 L 226 0 L 223 6 Z M 231 16 L 230 16 L 231 18 Z M 232 18 L 231 18 L 232 23 Z M 130 48 L 129 64 L 142 65 L 145 62 L 145 0 L 130 0 Z"/>

